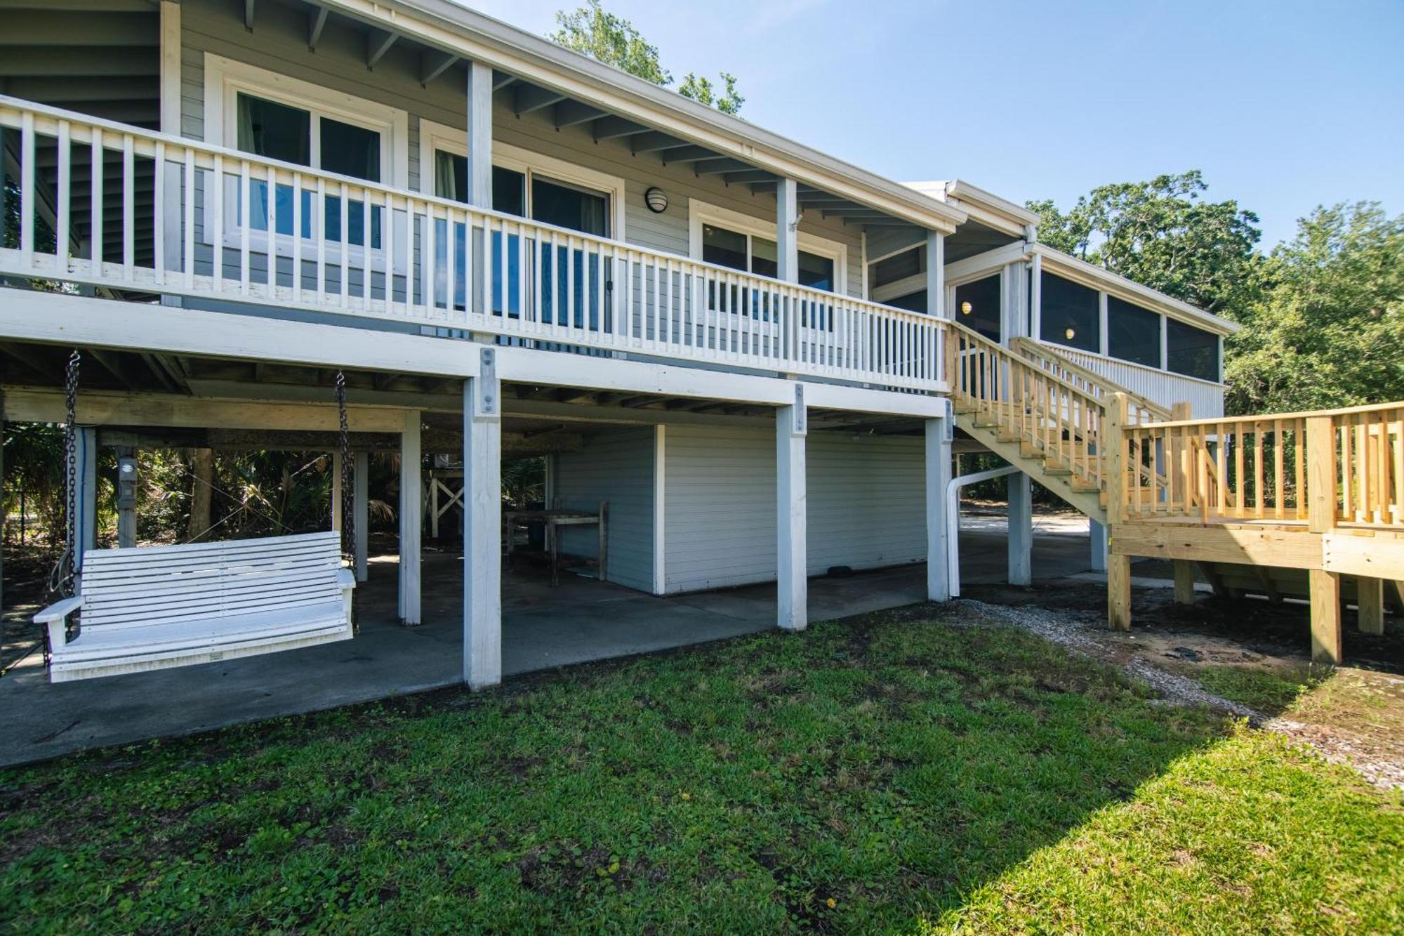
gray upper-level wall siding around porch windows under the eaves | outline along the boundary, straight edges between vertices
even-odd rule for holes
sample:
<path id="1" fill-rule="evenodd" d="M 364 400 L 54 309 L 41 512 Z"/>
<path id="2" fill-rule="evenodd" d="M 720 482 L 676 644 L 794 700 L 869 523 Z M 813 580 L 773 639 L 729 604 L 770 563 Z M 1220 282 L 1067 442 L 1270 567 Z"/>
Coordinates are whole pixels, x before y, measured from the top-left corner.
<path id="1" fill-rule="evenodd" d="M 448 126 L 466 126 L 468 108 L 463 66 L 451 67 L 424 87 L 418 82 L 418 56 L 409 45 L 395 45 L 373 70 L 365 67 L 364 38 L 327 20 L 316 52 L 307 51 L 307 13 L 267 3 L 256 7 L 254 30 L 243 24 L 243 7 L 225 0 L 181 3 L 181 131 L 208 139 L 205 128 L 205 52 L 246 62 L 303 82 L 312 82 L 368 101 L 388 104 L 410 115 L 410 186 L 418 187 L 418 122 L 427 118 Z M 657 155 L 635 156 L 628 142 L 595 143 L 585 126 L 560 131 L 552 122 L 552 108 L 517 117 L 511 110 L 511 87 L 494 97 L 493 138 L 577 166 L 625 180 L 625 240 L 656 250 L 687 256 L 688 198 L 774 221 L 775 197 L 753 195 L 748 186 L 726 186 L 716 177 L 698 177 L 687 166 L 664 166 Z M 643 193 L 657 186 L 668 195 L 668 208 L 653 214 Z M 800 230 L 837 240 L 848 247 L 848 292 L 862 292 L 862 239 L 856 226 L 806 214 Z"/>

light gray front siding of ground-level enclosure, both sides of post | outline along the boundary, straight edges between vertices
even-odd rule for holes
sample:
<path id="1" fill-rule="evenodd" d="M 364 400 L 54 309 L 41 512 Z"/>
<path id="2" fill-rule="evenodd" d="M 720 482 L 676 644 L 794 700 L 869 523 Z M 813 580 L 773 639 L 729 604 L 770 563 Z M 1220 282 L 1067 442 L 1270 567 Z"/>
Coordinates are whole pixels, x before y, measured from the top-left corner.
<path id="1" fill-rule="evenodd" d="M 810 575 L 925 559 L 921 438 L 812 433 L 806 461 Z M 774 580 L 774 433 L 670 426 L 663 464 L 667 590 Z"/>

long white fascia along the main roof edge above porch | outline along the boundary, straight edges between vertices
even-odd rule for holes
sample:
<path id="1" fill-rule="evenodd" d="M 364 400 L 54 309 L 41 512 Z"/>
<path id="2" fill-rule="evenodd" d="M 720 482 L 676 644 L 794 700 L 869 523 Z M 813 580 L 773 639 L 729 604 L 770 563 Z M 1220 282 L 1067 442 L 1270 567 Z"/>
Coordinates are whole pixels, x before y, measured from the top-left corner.
<path id="1" fill-rule="evenodd" d="M 754 124 L 703 107 L 675 91 L 571 52 L 452 0 L 323 0 L 322 6 L 425 45 L 487 62 L 534 84 L 637 119 L 750 162 L 782 177 L 952 233 L 966 212 L 820 153 Z"/>

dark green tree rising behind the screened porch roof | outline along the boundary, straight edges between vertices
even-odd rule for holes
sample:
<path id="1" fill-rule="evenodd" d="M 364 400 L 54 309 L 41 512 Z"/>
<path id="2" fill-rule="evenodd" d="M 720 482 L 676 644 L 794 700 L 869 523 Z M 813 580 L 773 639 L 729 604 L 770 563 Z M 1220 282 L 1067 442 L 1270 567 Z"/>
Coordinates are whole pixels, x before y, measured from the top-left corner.
<path id="1" fill-rule="evenodd" d="M 1039 239 L 1075 257 L 1184 299 L 1228 313 L 1261 287 L 1258 216 L 1228 200 L 1210 202 L 1199 170 L 1143 183 L 1099 186 L 1066 214 L 1031 201 Z"/>

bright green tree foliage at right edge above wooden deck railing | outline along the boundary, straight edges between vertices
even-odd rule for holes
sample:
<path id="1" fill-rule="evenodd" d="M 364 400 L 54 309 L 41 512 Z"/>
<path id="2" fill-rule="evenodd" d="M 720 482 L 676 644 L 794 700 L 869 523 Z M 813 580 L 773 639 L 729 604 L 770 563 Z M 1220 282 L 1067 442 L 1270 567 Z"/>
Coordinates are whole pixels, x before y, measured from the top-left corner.
<path id="1" fill-rule="evenodd" d="M 1266 288 L 1234 318 L 1234 413 L 1404 399 L 1404 215 L 1321 207 L 1265 263 Z"/>

